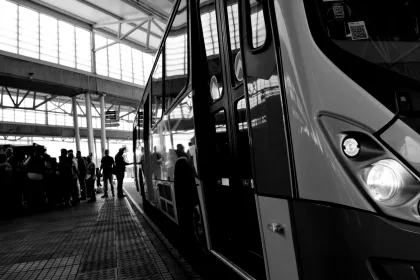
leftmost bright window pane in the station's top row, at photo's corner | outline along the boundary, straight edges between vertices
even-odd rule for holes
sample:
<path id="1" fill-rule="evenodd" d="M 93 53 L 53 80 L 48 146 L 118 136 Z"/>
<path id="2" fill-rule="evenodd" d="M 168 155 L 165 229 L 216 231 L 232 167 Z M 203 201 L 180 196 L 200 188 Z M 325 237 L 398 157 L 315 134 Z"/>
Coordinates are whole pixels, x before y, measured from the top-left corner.
<path id="1" fill-rule="evenodd" d="M 0 0 L 0 50 L 17 53 L 18 6 L 9 1 Z"/>

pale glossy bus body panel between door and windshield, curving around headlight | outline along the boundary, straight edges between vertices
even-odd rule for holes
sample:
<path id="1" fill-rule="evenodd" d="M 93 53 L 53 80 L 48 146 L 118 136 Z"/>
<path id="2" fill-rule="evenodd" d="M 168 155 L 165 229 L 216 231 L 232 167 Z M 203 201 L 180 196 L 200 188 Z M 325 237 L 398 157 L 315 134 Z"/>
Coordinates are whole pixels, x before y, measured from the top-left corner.
<path id="1" fill-rule="evenodd" d="M 299 197 L 374 211 L 333 155 L 317 119 L 331 112 L 375 132 L 393 114 L 319 50 L 302 0 L 277 0 L 274 6 Z"/>

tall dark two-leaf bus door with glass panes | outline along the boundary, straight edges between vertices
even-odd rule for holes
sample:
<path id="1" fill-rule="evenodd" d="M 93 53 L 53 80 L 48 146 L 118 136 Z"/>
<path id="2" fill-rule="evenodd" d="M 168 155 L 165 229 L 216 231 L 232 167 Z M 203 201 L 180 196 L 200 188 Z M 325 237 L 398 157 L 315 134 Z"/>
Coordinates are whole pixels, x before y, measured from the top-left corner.
<path id="1" fill-rule="evenodd" d="M 207 143 L 214 150 L 213 183 L 204 191 L 210 247 L 245 276 L 265 279 L 243 76 L 235 73 L 241 63 L 238 1 L 201 0 L 199 9 L 214 124 L 208 128 L 213 143 Z"/>

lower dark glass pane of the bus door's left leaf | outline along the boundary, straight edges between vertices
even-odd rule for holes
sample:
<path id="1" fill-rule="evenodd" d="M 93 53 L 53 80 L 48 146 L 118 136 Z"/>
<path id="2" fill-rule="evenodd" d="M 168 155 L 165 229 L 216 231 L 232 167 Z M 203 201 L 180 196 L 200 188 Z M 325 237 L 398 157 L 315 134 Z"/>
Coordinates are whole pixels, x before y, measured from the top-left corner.
<path id="1" fill-rule="evenodd" d="M 218 162 L 216 166 L 213 166 L 214 174 L 216 178 L 229 178 L 231 173 L 230 147 L 225 110 L 214 114 L 214 124 L 216 130 L 216 142 L 214 143 L 216 153 L 214 158 L 217 158 Z"/>

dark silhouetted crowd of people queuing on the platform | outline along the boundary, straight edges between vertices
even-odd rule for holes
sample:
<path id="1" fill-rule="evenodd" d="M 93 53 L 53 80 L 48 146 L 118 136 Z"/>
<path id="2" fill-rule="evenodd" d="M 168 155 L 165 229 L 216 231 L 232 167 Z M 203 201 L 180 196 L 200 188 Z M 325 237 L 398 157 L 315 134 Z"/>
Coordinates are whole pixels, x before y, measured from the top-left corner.
<path id="1" fill-rule="evenodd" d="M 8 198 L 6 203 L 0 203 L 0 216 L 7 211 L 20 212 L 25 207 L 44 209 L 76 206 L 81 200 L 95 202 L 95 182 L 100 188 L 101 177 L 104 182 L 102 197 L 108 197 L 108 185 L 114 196 L 114 175 L 118 182 L 117 196 L 124 197 L 125 167 L 131 164 L 126 162 L 125 154 L 125 147 L 115 158 L 106 150 L 101 166 L 97 168 L 92 156 L 82 157 L 80 151 L 74 156 L 73 150 L 61 149 L 57 161 L 46 153 L 44 146 L 34 146 L 32 154 L 20 159 L 14 156 L 12 148 L 8 148 L 6 153 L 0 153 L 0 189 Z"/>

